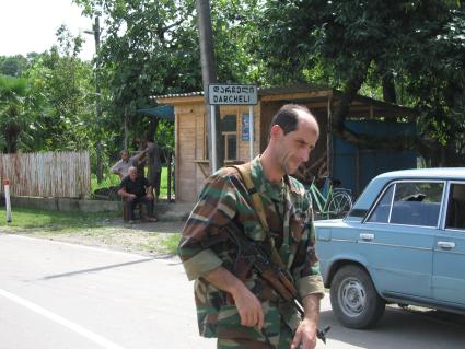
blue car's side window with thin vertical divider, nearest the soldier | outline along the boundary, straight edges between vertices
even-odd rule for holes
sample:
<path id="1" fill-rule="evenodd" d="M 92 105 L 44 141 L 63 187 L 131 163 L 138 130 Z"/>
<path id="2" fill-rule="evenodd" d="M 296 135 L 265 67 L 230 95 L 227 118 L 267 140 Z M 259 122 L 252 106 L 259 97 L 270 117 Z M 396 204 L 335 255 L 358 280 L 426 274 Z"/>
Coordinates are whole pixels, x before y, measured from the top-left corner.
<path id="1" fill-rule="evenodd" d="M 443 183 L 395 183 L 385 191 L 368 221 L 437 226 L 443 189 Z"/>

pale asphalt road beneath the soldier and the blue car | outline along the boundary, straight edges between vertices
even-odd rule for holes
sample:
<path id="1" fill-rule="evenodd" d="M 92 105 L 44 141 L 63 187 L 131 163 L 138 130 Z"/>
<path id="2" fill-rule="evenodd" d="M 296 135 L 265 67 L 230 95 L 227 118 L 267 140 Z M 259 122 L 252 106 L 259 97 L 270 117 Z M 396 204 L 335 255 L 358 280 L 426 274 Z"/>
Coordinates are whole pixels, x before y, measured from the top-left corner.
<path id="1" fill-rule="evenodd" d="M 216 348 L 197 335 L 193 284 L 176 258 L 0 234 L 0 349 Z M 317 348 L 464 348 L 465 326 L 388 309 L 372 330 L 322 304 Z"/>

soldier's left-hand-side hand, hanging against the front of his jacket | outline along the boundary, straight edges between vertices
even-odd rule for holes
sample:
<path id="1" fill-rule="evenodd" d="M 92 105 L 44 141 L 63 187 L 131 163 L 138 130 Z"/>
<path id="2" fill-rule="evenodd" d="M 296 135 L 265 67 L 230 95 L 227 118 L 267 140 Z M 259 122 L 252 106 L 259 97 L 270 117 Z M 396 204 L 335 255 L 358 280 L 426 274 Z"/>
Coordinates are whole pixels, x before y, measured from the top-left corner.
<path id="1" fill-rule="evenodd" d="M 264 310 L 258 299 L 245 286 L 233 294 L 235 306 L 241 316 L 241 325 L 264 327 Z"/>

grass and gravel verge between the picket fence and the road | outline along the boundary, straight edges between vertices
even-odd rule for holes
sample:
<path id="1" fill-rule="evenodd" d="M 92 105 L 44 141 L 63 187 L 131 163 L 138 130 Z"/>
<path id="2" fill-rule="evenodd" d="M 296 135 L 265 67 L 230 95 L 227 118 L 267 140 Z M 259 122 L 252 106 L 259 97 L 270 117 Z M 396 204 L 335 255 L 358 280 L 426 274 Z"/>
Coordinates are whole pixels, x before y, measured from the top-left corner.
<path id="1" fill-rule="evenodd" d="M 183 222 L 125 224 L 120 212 L 66 212 L 13 208 L 12 222 L 0 209 L 0 233 L 43 237 L 139 254 L 175 255 Z"/>

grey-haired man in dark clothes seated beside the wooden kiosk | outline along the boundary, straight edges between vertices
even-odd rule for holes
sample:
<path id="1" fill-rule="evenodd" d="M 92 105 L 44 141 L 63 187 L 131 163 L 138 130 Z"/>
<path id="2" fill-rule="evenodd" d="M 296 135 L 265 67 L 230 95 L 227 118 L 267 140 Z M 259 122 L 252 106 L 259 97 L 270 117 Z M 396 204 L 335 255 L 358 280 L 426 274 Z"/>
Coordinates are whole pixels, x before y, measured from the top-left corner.
<path id="1" fill-rule="evenodd" d="M 152 212 L 153 195 L 152 187 L 146 177 L 140 177 L 135 166 L 130 166 L 128 175 L 123 178 L 118 194 L 125 200 L 126 212 L 129 213 L 129 222 L 136 220 L 135 208 L 138 203 L 146 206 L 146 212 Z M 142 220 L 156 222 L 155 218 L 141 217 Z"/>

